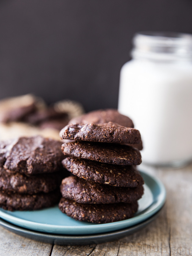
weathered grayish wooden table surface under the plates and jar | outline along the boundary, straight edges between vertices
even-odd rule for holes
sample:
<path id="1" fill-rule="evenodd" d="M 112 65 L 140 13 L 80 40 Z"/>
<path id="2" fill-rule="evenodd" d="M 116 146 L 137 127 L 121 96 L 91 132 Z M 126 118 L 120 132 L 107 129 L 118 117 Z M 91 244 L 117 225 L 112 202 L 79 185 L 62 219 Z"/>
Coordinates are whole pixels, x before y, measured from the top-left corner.
<path id="1" fill-rule="evenodd" d="M 167 191 L 160 215 L 142 230 L 103 244 L 60 246 L 30 240 L 0 227 L 0 255 L 192 255 L 192 165 L 180 169 L 141 168 L 157 176 Z"/>

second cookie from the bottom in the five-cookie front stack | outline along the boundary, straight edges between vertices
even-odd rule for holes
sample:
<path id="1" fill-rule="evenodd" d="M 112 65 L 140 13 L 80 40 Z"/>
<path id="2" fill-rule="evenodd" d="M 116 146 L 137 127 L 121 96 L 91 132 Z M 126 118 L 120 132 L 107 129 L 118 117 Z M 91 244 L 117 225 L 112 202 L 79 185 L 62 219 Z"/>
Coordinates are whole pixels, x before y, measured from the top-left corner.
<path id="1" fill-rule="evenodd" d="M 131 204 L 142 196 L 143 186 L 113 187 L 69 176 L 62 180 L 60 191 L 63 197 L 83 204 Z"/>

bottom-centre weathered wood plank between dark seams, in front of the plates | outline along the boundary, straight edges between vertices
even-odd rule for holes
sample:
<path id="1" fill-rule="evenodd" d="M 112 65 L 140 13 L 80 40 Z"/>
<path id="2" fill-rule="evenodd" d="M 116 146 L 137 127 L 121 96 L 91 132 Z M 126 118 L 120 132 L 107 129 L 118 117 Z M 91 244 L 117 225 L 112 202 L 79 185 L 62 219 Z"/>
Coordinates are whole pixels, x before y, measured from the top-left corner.
<path id="1" fill-rule="evenodd" d="M 66 246 L 54 245 L 52 256 L 169 256 L 166 205 L 158 218 L 141 231 L 120 240 L 92 246 L 92 251 L 90 245 L 83 247 L 71 246 L 69 251 L 66 251 Z M 63 249 L 65 253 L 62 251 Z"/>

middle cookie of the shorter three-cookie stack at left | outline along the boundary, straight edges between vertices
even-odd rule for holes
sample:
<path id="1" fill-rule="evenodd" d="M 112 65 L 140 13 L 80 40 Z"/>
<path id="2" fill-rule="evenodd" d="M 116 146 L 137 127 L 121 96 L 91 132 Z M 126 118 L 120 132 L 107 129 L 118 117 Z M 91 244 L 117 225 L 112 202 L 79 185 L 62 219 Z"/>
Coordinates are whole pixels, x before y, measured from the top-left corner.
<path id="1" fill-rule="evenodd" d="M 48 193 L 59 187 L 63 177 L 63 172 L 27 176 L 18 172 L 9 173 L 0 168 L 0 190 L 21 194 Z"/>

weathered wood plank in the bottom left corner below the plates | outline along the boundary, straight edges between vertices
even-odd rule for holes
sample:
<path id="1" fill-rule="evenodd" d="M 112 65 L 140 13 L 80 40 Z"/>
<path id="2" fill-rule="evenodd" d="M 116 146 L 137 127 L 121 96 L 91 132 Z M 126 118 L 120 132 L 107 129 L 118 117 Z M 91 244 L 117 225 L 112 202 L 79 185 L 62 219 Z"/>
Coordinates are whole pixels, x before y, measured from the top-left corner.
<path id="1" fill-rule="evenodd" d="M 52 245 L 18 236 L 0 227 L 1 256 L 49 256 Z"/>

